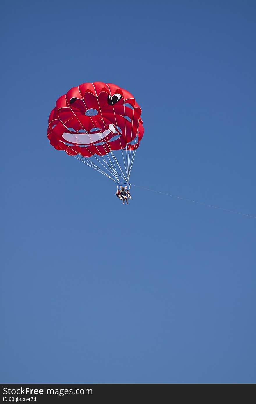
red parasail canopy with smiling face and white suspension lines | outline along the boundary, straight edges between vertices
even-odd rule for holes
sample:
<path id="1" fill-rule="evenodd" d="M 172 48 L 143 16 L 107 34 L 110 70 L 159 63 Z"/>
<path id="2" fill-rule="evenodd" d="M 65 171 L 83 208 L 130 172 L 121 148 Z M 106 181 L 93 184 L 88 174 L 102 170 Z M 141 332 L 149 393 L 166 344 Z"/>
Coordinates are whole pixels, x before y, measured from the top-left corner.
<path id="1" fill-rule="evenodd" d="M 49 116 L 47 137 L 55 149 L 80 155 L 88 165 L 103 171 L 102 166 L 91 162 L 90 158 L 95 157 L 116 179 L 119 173 L 128 182 L 144 133 L 140 115 L 140 106 L 127 90 L 115 84 L 84 83 L 57 99 Z M 118 150 L 123 155 L 124 170 L 113 154 Z"/>

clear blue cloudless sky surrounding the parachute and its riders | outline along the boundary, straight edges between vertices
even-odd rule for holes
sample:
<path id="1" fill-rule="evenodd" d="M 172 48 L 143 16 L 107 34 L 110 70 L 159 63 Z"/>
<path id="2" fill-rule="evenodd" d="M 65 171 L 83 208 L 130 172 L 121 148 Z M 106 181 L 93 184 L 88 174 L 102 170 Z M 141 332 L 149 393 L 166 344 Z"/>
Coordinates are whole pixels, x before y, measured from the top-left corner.
<path id="1" fill-rule="evenodd" d="M 116 185 L 58 97 L 142 107 L 131 183 L 256 216 L 254 1 L 4 1 L 2 383 L 255 383 L 256 219 Z M 100 189 L 100 191 L 99 191 Z"/>

